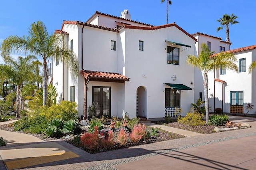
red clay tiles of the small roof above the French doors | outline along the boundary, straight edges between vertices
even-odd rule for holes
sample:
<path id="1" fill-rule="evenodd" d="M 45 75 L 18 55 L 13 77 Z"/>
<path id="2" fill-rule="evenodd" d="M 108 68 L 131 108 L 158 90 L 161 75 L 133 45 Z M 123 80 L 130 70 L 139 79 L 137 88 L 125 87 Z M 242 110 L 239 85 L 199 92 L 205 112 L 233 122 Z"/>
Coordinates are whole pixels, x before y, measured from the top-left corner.
<path id="1" fill-rule="evenodd" d="M 104 78 L 104 79 L 118 79 L 129 81 L 130 78 L 121 75 L 119 73 L 110 73 L 110 72 L 103 72 L 103 71 L 89 71 L 89 70 L 81 70 L 80 74 L 84 76 L 84 78 L 88 79 L 90 77 L 94 78 Z"/>

